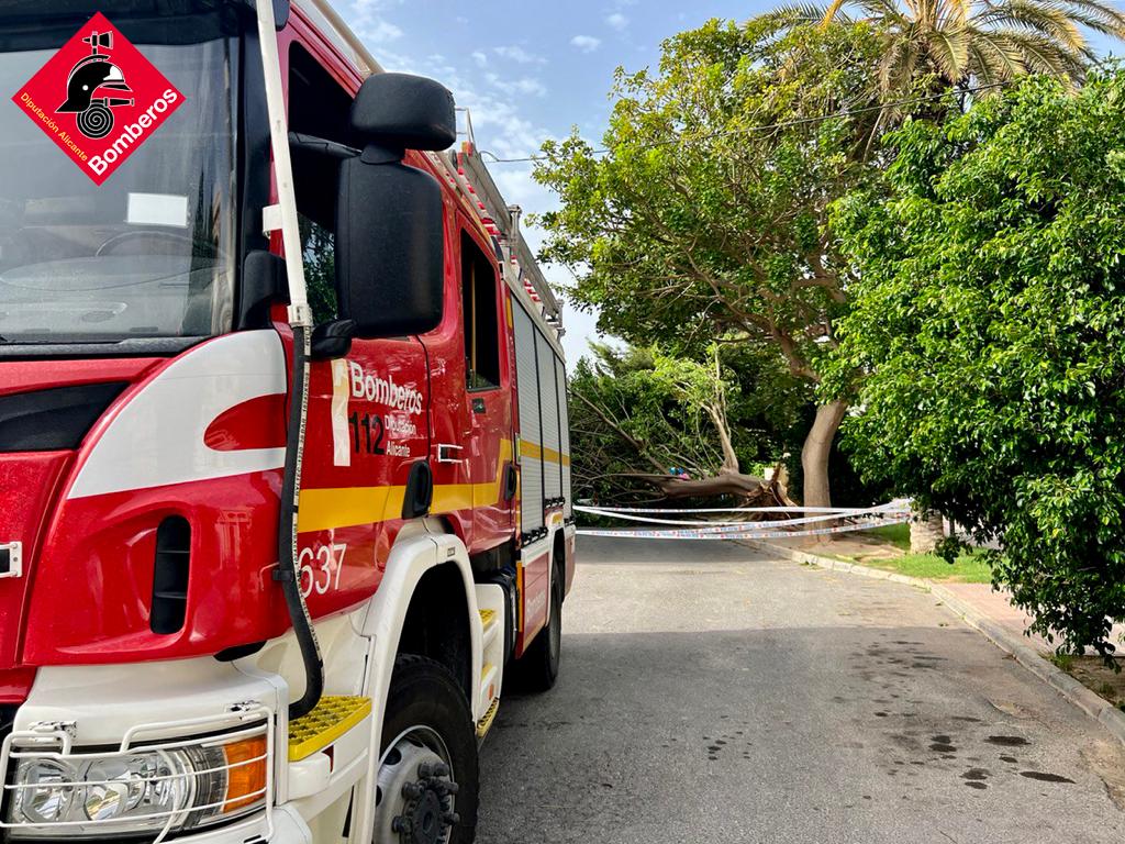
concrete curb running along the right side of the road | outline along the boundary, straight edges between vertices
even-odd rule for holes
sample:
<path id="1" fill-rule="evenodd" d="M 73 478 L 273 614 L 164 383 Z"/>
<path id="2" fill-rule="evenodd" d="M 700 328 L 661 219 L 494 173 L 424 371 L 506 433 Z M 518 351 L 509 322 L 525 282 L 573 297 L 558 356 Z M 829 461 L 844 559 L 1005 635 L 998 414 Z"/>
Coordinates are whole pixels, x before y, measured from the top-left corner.
<path id="1" fill-rule="evenodd" d="M 1012 634 L 1010 630 L 997 623 L 992 618 L 984 614 L 972 604 L 966 603 L 939 583 L 925 581 L 920 577 L 908 577 L 907 575 L 897 574 L 896 572 L 885 572 L 881 568 L 871 568 L 868 566 L 862 566 L 857 563 L 845 563 L 839 559 L 832 559 L 831 557 L 821 557 L 816 554 L 799 551 L 793 548 L 785 548 L 784 546 L 774 545 L 772 542 L 753 539 L 742 541 L 750 548 L 767 551 L 770 554 L 776 554 L 795 563 L 807 563 L 809 565 L 817 566 L 818 568 L 827 568 L 832 572 L 847 572 L 848 574 L 857 574 L 863 577 L 872 577 L 879 581 L 904 583 L 909 586 L 929 592 L 935 598 L 940 599 L 942 603 L 960 616 L 965 623 L 978 630 L 984 636 L 984 638 L 1000 648 L 1000 650 L 1009 654 L 1016 662 L 1032 672 L 1044 683 L 1052 686 L 1063 698 L 1097 720 L 1098 724 L 1105 727 L 1114 738 L 1125 745 L 1125 712 L 1108 701 L 1099 698 L 1054 663 L 1044 659 L 1034 648 L 1027 645 L 1024 637 Z"/>

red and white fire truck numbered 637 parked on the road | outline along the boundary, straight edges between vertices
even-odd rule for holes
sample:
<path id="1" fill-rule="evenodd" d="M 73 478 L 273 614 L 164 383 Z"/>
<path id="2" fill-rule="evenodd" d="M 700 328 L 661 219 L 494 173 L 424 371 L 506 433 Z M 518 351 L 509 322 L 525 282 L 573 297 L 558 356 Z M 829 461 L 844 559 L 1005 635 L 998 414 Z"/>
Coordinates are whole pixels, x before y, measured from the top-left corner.
<path id="1" fill-rule="evenodd" d="M 87 125 L 125 42 L 178 106 L 100 187 L 19 96 L 76 33 Z M 471 842 L 575 528 L 559 306 L 452 97 L 324 0 L 6 0 L 0 89 L 0 841 Z"/>

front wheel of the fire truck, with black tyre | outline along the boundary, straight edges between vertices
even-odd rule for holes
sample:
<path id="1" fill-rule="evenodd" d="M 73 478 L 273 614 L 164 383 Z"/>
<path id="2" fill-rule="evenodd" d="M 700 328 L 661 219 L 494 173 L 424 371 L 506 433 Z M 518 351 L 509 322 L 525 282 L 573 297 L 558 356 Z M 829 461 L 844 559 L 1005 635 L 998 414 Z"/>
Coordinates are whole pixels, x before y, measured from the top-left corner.
<path id="1" fill-rule="evenodd" d="M 477 739 L 449 668 L 424 656 L 395 659 L 380 746 L 372 844 L 472 844 Z"/>

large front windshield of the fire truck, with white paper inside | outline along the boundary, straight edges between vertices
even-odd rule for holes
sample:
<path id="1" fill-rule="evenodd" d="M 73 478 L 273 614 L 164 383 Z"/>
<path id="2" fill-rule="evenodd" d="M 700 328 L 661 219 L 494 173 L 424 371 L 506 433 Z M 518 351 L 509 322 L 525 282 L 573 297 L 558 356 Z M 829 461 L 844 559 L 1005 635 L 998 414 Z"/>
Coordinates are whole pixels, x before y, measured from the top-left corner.
<path id="1" fill-rule="evenodd" d="M 237 41 L 134 44 L 182 101 L 129 144 L 100 187 L 83 172 L 88 164 L 72 161 L 9 99 L 55 50 L 0 52 L 4 343 L 201 338 L 231 329 Z M 128 84 L 127 77 L 108 79 Z M 43 111 L 62 108 L 68 92 L 58 95 L 39 105 Z M 72 141 L 81 146 L 84 138 L 75 133 Z"/>

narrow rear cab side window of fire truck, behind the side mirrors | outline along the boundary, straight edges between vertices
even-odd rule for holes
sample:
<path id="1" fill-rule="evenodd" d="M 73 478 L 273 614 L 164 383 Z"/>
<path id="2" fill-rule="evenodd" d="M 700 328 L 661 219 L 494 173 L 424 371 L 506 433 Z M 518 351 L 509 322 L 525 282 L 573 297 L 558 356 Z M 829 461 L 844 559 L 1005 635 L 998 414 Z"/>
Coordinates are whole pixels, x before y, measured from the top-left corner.
<path id="1" fill-rule="evenodd" d="M 500 276 L 467 232 L 461 232 L 461 308 L 469 389 L 500 386 Z"/>

